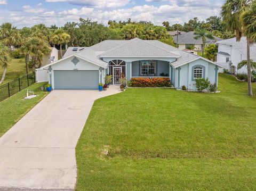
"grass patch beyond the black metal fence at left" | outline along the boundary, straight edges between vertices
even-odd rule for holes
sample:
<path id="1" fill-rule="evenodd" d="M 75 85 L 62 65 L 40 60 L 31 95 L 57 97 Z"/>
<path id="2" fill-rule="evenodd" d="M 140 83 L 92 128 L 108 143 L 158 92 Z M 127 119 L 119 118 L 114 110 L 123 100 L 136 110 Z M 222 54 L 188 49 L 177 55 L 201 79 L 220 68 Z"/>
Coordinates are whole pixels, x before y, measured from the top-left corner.
<path id="1" fill-rule="evenodd" d="M 10 59 L 10 63 L 7 67 L 3 84 L 6 84 L 7 82 L 13 81 L 15 79 L 18 79 L 19 77 L 26 75 L 25 59 L 12 59 L 11 57 L 9 59 Z M 3 75 L 3 68 L 0 68 L 0 78 L 2 78 L 2 75 Z"/>

